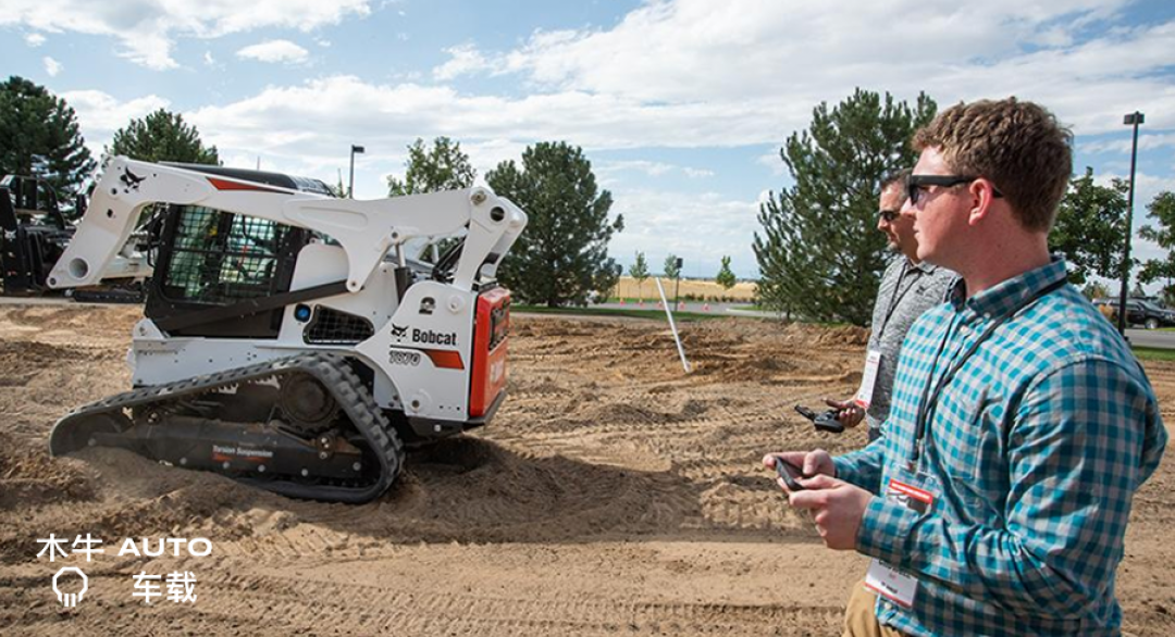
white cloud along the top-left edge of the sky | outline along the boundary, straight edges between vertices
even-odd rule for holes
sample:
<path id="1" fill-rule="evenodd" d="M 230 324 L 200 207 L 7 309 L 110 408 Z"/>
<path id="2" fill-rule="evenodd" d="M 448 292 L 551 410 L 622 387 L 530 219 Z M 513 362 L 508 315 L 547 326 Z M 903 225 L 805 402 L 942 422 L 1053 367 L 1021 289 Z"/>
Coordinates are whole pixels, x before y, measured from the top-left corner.
<path id="1" fill-rule="evenodd" d="M 123 57 L 163 70 L 179 66 L 172 57 L 179 38 L 220 38 L 266 27 L 310 32 L 370 13 L 369 0 L 6 0 L 0 26 L 110 36 L 121 43 Z"/>

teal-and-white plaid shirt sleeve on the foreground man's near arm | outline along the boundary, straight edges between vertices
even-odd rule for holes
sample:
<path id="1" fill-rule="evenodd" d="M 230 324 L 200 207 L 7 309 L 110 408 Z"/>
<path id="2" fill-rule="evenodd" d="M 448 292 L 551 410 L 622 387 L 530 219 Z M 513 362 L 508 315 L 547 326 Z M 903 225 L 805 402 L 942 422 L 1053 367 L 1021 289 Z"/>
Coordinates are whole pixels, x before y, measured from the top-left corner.
<path id="1" fill-rule="evenodd" d="M 1002 528 L 877 497 L 858 550 L 1014 614 L 1080 617 L 1114 581 L 1132 496 L 1162 454 L 1157 405 L 1137 371 L 1082 359 L 1038 379 L 1009 415 Z"/>

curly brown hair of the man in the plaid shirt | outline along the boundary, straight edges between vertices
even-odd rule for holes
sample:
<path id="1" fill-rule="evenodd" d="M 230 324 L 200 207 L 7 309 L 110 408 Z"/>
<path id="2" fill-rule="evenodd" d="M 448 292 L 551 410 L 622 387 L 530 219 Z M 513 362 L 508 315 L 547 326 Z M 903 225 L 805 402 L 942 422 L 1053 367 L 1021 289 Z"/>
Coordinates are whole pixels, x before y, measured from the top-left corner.
<path id="1" fill-rule="evenodd" d="M 1073 133 L 1033 102 L 958 103 L 914 134 L 960 175 L 986 177 L 1027 230 L 1047 232 L 1073 172 Z"/>

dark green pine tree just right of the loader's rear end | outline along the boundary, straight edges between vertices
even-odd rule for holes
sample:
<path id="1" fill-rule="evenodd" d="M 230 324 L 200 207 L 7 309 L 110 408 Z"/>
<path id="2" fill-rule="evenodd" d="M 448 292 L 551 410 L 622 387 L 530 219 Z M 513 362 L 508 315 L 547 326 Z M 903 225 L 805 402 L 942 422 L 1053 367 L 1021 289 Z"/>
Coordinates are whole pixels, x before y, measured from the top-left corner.
<path id="1" fill-rule="evenodd" d="M 586 303 L 611 276 L 607 242 L 624 221 L 618 215 L 609 222 L 612 194 L 596 185 L 583 151 L 566 142 L 540 142 L 523 151 L 521 168 L 502 162 L 485 181 L 530 217 L 498 277 L 525 301 Z"/>

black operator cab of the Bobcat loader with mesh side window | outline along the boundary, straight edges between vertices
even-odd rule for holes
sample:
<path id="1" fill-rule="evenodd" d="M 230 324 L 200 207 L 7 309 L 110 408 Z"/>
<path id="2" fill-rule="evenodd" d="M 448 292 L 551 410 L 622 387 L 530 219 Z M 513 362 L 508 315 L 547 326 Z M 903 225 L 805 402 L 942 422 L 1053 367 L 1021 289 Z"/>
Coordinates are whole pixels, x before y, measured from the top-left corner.
<path id="1" fill-rule="evenodd" d="M 316 179 L 222 167 L 179 165 L 188 170 L 307 192 L 329 194 Z M 146 316 L 157 323 L 186 314 L 208 317 L 169 330 L 173 336 L 277 338 L 283 309 L 240 316 L 231 309 L 288 292 L 308 230 L 199 205 L 166 205 L 152 242 L 155 275 Z M 224 309 L 217 314 L 215 309 Z M 210 312 L 212 311 L 212 312 Z"/>

